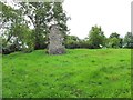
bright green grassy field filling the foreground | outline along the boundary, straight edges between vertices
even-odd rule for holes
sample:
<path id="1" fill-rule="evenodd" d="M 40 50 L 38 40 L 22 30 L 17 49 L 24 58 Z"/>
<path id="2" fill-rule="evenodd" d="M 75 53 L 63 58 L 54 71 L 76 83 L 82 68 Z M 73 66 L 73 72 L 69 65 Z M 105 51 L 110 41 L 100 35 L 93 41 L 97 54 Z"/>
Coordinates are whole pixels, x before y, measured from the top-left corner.
<path id="1" fill-rule="evenodd" d="M 3 98 L 130 98 L 130 49 L 44 50 L 2 58 Z"/>

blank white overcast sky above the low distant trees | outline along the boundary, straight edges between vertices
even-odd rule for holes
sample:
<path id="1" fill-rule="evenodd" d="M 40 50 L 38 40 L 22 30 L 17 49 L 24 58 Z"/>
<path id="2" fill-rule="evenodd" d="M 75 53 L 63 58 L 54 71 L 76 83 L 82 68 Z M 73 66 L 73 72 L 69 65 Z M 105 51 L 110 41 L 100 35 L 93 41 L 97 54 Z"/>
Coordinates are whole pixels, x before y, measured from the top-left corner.
<path id="1" fill-rule="evenodd" d="M 83 39 L 92 26 L 101 26 L 109 37 L 117 32 L 122 37 L 131 31 L 132 0 L 64 0 L 63 8 L 71 20 L 68 27 L 70 34 Z"/>

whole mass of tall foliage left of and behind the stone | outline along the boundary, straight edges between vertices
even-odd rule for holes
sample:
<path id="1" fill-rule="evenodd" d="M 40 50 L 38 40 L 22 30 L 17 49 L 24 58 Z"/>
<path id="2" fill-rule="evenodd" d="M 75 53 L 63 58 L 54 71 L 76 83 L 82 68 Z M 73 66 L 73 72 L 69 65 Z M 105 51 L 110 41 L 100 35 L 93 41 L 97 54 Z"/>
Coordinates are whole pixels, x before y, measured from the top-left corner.
<path id="1" fill-rule="evenodd" d="M 65 37 L 66 34 L 68 17 L 63 11 L 62 2 L 19 2 L 17 3 L 18 9 L 7 6 L 3 2 L 0 3 L 3 9 L 2 22 L 6 24 L 6 31 L 1 37 L 3 40 L 3 53 L 18 50 L 28 50 L 29 52 L 33 49 L 47 48 L 49 43 L 49 28 L 53 21 L 57 21 L 60 26 L 63 36 Z M 7 24 L 9 26 L 7 27 Z M 30 29 L 31 24 L 33 26 L 33 30 Z"/>

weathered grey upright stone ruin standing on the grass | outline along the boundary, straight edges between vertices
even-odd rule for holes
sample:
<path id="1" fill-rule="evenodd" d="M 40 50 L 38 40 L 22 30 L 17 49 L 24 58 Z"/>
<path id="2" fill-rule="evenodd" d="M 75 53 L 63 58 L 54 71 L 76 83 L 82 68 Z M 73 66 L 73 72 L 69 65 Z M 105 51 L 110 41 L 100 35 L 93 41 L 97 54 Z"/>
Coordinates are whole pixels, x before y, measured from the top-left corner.
<path id="1" fill-rule="evenodd" d="M 63 37 L 57 24 L 52 24 L 49 33 L 49 54 L 62 54 L 65 53 L 65 48 L 62 44 Z"/>

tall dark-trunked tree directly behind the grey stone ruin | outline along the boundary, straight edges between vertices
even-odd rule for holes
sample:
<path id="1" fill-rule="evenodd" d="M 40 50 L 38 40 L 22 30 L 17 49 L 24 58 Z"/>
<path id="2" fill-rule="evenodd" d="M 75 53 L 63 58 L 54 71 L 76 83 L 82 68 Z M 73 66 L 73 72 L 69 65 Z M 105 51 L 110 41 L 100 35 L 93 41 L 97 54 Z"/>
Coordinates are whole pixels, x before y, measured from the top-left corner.
<path id="1" fill-rule="evenodd" d="M 68 17 L 62 8 L 62 2 L 22 2 L 21 4 L 34 26 L 35 49 L 41 49 L 49 43 L 48 37 L 53 22 L 59 26 L 59 30 L 65 37 Z"/>

